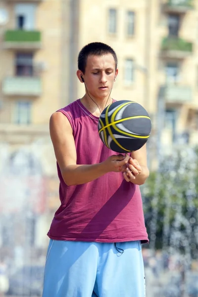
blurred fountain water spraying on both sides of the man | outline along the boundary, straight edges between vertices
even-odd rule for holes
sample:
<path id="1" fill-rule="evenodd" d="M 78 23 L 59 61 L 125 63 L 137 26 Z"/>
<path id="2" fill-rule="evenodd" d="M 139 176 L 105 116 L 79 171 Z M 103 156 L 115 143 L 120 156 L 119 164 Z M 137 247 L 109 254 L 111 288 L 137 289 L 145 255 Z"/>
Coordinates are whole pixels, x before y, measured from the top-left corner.
<path id="1" fill-rule="evenodd" d="M 192 269 L 198 263 L 198 155 L 187 146 L 172 151 L 160 154 L 153 180 L 142 188 L 150 239 L 143 248 L 146 296 L 198 297 Z M 9 296 L 41 296 L 53 216 L 46 181 L 53 174 L 54 153 L 44 140 L 20 148 L 0 144 L 0 290 L 7 277 Z"/>

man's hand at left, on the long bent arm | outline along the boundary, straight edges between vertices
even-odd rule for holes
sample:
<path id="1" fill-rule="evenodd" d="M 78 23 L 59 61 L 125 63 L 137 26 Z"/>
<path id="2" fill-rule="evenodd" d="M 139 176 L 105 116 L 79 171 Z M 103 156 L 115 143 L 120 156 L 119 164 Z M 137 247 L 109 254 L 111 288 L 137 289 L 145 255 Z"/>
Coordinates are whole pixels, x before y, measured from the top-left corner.
<path id="1" fill-rule="evenodd" d="M 129 155 L 112 155 L 108 157 L 104 162 L 104 166 L 107 172 L 124 172 L 125 166 L 129 161 Z"/>

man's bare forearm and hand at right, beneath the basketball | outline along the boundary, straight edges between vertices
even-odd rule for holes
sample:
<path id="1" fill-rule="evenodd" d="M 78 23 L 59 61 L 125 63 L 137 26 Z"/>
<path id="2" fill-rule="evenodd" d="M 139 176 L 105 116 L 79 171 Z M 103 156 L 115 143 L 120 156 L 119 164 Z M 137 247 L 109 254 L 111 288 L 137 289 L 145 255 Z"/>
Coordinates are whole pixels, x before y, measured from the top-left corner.
<path id="1" fill-rule="evenodd" d="M 136 185 L 143 185 L 145 183 L 149 176 L 146 145 L 131 153 L 128 168 L 123 175 L 127 182 L 132 182 Z"/>

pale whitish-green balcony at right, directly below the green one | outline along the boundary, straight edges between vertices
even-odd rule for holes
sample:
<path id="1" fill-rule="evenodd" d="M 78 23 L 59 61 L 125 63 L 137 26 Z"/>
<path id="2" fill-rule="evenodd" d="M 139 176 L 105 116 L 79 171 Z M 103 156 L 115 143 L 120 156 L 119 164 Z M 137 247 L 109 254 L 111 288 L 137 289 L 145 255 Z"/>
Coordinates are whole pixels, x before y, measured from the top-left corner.
<path id="1" fill-rule="evenodd" d="M 166 103 L 189 103 L 193 100 L 193 90 L 186 85 L 168 84 L 160 88 L 160 97 Z"/>

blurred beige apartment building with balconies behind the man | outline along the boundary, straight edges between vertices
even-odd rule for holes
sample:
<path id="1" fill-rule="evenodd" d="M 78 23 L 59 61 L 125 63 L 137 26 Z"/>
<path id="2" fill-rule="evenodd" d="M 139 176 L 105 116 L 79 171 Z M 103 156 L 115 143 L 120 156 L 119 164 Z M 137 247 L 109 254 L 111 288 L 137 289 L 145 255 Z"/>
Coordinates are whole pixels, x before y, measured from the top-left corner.
<path id="1" fill-rule="evenodd" d="M 84 94 L 79 50 L 100 41 L 118 55 L 113 97 L 143 104 L 162 144 L 197 142 L 198 1 L 1 2 L 0 140 L 49 137 L 50 114 Z"/>

